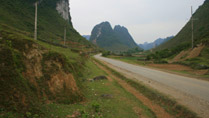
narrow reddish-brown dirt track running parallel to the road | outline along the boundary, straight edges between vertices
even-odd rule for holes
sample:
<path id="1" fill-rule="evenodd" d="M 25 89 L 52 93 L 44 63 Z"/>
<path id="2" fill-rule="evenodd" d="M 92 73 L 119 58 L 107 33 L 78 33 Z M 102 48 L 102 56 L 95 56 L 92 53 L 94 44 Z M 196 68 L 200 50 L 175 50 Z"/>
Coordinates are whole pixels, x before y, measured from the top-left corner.
<path id="1" fill-rule="evenodd" d="M 149 100 L 147 97 L 139 93 L 135 88 L 131 87 L 128 83 L 121 80 L 120 78 L 113 75 L 109 70 L 105 69 L 101 65 L 95 62 L 95 64 L 100 67 L 102 70 L 104 70 L 109 76 L 111 76 L 114 80 L 116 80 L 125 90 L 133 94 L 137 99 L 143 102 L 144 105 L 148 106 L 157 116 L 157 118 L 172 118 L 170 114 L 168 114 L 162 107 L 159 105 L 153 103 L 151 100 Z M 140 114 L 139 111 L 136 110 L 137 114 Z M 143 117 L 140 116 L 139 117 Z"/>

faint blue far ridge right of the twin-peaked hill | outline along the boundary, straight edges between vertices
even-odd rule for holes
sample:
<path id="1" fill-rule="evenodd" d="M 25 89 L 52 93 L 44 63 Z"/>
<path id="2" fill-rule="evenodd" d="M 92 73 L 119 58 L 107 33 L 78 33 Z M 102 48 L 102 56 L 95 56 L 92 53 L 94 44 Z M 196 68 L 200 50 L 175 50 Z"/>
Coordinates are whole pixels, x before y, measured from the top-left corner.
<path id="1" fill-rule="evenodd" d="M 167 38 L 159 38 L 157 40 L 155 40 L 154 42 L 151 42 L 151 43 L 143 43 L 143 44 L 139 44 L 139 47 L 144 49 L 144 50 L 150 50 L 152 48 L 155 48 L 167 41 L 169 41 L 170 39 L 172 39 L 174 36 L 170 36 L 170 37 L 167 37 Z"/>

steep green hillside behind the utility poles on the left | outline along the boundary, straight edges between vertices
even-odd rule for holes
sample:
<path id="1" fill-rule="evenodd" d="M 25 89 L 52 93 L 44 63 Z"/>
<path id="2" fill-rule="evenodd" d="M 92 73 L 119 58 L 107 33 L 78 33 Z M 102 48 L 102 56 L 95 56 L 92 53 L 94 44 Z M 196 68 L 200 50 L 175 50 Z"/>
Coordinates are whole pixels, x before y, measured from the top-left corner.
<path id="1" fill-rule="evenodd" d="M 67 26 L 67 44 L 70 47 L 92 46 L 73 28 L 71 20 L 64 20 L 56 10 L 59 0 L 43 0 L 38 6 L 38 39 L 63 44 L 64 26 Z M 6 24 L 33 37 L 35 0 L 0 0 L 0 24 Z"/>

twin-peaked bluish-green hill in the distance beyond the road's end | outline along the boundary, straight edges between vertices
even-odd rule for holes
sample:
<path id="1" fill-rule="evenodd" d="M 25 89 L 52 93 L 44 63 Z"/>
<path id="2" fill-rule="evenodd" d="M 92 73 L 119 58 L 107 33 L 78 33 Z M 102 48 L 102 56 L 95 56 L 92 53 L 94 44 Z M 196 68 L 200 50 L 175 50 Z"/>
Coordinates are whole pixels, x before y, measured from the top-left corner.
<path id="1" fill-rule="evenodd" d="M 112 29 L 109 22 L 96 25 L 92 30 L 90 41 L 109 51 L 127 51 L 138 47 L 127 28 L 117 25 Z"/>

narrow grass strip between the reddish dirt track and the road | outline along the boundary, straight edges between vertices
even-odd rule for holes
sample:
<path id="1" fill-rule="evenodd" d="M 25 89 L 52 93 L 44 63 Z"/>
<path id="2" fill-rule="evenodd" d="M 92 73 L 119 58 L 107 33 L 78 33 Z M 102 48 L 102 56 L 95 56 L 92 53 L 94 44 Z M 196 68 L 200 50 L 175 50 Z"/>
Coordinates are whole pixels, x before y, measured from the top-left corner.
<path id="1" fill-rule="evenodd" d="M 95 61 L 97 61 L 100 65 L 104 66 L 106 69 L 112 71 L 112 73 L 116 75 L 117 77 L 119 77 L 120 79 L 125 80 L 129 85 L 134 87 L 136 90 L 138 90 L 140 93 L 142 93 L 144 96 L 146 96 L 147 98 L 149 98 L 156 104 L 159 104 L 169 114 L 175 116 L 176 118 L 197 118 L 198 117 L 197 114 L 190 111 L 186 107 L 179 105 L 175 100 L 168 98 L 162 93 L 159 93 L 154 89 L 148 88 L 139 82 L 136 82 L 134 80 L 124 77 L 117 71 L 107 67 L 106 65 L 102 64 L 98 60 L 95 60 Z"/>

